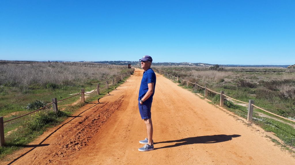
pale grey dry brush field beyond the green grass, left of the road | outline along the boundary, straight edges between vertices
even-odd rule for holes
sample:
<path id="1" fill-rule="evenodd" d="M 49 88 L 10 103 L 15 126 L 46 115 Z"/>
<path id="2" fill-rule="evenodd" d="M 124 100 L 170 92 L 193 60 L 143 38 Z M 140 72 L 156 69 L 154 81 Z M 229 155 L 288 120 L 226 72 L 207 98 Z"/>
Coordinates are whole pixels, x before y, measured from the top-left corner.
<path id="1" fill-rule="evenodd" d="M 121 68 L 96 68 L 55 64 L 1 64 L 0 85 L 19 90 L 35 89 L 51 85 L 76 86 L 89 79 L 114 78 Z"/>

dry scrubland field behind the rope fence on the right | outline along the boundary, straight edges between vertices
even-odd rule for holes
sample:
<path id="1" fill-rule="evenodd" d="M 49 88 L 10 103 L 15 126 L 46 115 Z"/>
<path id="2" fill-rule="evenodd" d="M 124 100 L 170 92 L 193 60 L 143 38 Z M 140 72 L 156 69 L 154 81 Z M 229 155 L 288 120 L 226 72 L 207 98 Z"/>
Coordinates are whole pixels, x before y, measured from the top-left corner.
<path id="1" fill-rule="evenodd" d="M 295 116 L 295 73 L 289 72 L 235 72 L 235 71 L 194 71 L 192 67 L 155 67 L 190 82 L 214 91 L 225 91 L 231 97 L 248 102 L 255 100 L 258 106 L 264 107 L 279 115 Z M 257 70 L 256 68 L 246 68 Z M 287 72 L 288 71 L 288 72 Z M 183 82 L 186 85 L 186 82 Z M 189 87 L 193 87 L 190 83 Z"/>

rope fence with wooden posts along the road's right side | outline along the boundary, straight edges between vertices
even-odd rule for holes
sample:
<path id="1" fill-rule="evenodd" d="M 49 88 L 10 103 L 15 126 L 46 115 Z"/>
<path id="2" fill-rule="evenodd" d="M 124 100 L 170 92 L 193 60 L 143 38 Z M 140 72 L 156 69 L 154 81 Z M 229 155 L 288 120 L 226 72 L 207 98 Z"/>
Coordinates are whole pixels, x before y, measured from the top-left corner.
<path id="1" fill-rule="evenodd" d="M 158 71 L 158 70 L 156 70 L 156 72 L 157 72 L 158 74 L 164 75 L 165 77 L 166 77 L 166 75 L 168 75 L 168 78 L 169 78 L 169 79 L 170 79 L 169 76 L 171 76 L 171 79 L 172 79 L 172 77 L 175 77 L 175 78 L 177 79 L 176 82 L 178 82 L 178 79 L 179 79 L 179 78 L 176 77 L 176 76 L 169 75 L 169 74 L 167 74 L 167 73 L 160 72 L 160 71 Z M 254 100 L 249 100 L 249 103 L 248 103 L 248 102 L 243 102 L 243 101 L 240 101 L 240 100 L 234 99 L 234 98 L 232 98 L 232 97 L 229 97 L 229 96 L 227 96 L 227 95 L 224 95 L 224 91 L 221 91 L 221 92 L 219 93 L 219 92 L 215 92 L 215 91 L 209 89 L 206 85 L 205 85 L 205 87 L 203 87 L 203 86 L 201 86 L 201 85 L 199 85 L 199 84 L 197 84 L 197 83 L 192 83 L 192 82 L 190 82 L 190 81 L 188 81 L 188 80 L 184 80 L 184 79 L 182 79 L 182 78 L 180 78 L 180 80 L 181 80 L 181 83 L 186 82 L 186 86 L 187 86 L 187 87 L 188 87 L 188 83 L 193 84 L 194 87 L 195 87 L 194 90 L 196 90 L 196 86 L 199 86 L 199 87 L 201 87 L 201 88 L 205 88 L 205 91 L 204 91 L 204 95 L 205 95 L 205 97 L 208 96 L 208 91 L 209 91 L 209 92 L 213 92 L 213 93 L 215 93 L 215 94 L 219 94 L 219 95 L 220 95 L 220 106 L 224 106 L 224 97 L 230 98 L 230 99 L 235 100 L 235 101 L 237 101 L 237 102 L 242 102 L 242 103 L 244 103 L 244 104 L 247 104 L 247 105 L 248 105 L 247 121 L 252 121 L 252 119 L 253 119 L 253 107 L 255 107 L 255 108 L 258 108 L 258 109 L 260 109 L 260 110 L 263 110 L 264 112 L 267 112 L 267 113 L 270 113 L 270 114 L 272 114 L 272 115 L 275 115 L 275 116 L 277 116 L 277 117 L 280 117 L 280 118 L 283 118 L 283 119 L 289 120 L 289 121 L 291 121 L 291 122 L 295 122 L 294 120 L 288 119 L 288 118 L 286 118 L 286 117 L 282 117 L 282 116 L 280 116 L 280 115 L 276 115 L 276 114 L 274 114 L 274 113 L 272 113 L 272 112 L 269 112 L 269 111 L 267 111 L 267 110 L 264 110 L 264 109 L 262 109 L 262 108 L 260 108 L 260 107 L 258 107 L 258 106 L 256 106 L 256 105 L 254 105 Z"/>

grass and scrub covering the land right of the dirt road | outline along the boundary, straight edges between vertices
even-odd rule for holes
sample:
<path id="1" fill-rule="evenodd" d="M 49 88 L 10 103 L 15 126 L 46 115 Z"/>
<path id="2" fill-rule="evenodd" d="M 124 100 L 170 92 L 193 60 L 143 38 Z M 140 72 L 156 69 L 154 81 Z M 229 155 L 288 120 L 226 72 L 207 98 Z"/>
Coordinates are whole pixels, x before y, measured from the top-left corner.
<path id="1" fill-rule="evenodd" d="M 196 82 L 201 86 L 207 85 L 213 91 L 224 91 L 225 95 L 243 102 L 254 100 L 256 106 L 295 121 L 294 69 L 284 69 L 285 72 L 222 72 L 196 71 L 191 68 L 183 67 L 180 70 L 179 67 L 153 67 L 154 70 L 172 74 L 193 83 Z M 252 69 L 257 70 L 256 68 L 247 68 L 247 70 Z M 282 70 L 282 68 L 277 68 L 277 70 Z M 194 91 L 194 85 L 189 83 L 189 86 L 186 87 L 186 82 L 180 86 L 204 96 L 203 88 L 197 86 Z M 220 95 L 208 92 L 208 99 L 219 104 Z M 248 106 L 235 103 L 237 102 L 227 98 L 224 101 L 228 110 L 247 118 Z M 295 147 L 294 122 L 278 118 L 259 109 L 254 108 L 254 110 L 253 122 L 255 124 L 268 132 L 274 132 L 285 144 Z"/>

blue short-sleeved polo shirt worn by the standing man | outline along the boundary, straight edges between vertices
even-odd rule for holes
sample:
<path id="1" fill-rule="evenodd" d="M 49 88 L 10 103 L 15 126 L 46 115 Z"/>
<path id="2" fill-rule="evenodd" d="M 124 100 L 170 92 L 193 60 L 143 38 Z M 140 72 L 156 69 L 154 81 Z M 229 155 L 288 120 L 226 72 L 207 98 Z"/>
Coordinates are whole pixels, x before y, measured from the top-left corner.
<path id="1" fill-rule="evenodd" d="M 138 100 L 142 99 L 142 97 L 145 96 L 145 94 L 148 92 L 148 83 L 154 83 L 154 91 L 153 94 L 147 100 L 145 100 L 145 102 L 153 101 L 153 96 L 155 93 L 156 74 L 151 68 L 143 72 L 139 88 Z"/>

